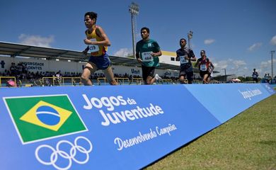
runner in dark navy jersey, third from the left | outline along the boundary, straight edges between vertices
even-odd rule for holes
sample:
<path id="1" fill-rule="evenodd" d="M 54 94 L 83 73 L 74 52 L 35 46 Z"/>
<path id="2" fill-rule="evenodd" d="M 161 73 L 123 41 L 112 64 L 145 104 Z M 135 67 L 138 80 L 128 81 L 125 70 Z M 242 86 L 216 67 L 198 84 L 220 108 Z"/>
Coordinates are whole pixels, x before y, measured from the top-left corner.
<path id="1" fill-rule="evenodd" d="M 180 61 L 180 72 L 179 72 L 179 81 L 180 84 L 185 84 L 185 77 L 188 79 L 188 84 L 192 84 L 192 77 L 194 73 L 192 72 L 192 62 L 196 61 L 194 52 L 186 46 L 186 40 L 181 38 L 180 49 L 176 51 L 176 61 Z"/>

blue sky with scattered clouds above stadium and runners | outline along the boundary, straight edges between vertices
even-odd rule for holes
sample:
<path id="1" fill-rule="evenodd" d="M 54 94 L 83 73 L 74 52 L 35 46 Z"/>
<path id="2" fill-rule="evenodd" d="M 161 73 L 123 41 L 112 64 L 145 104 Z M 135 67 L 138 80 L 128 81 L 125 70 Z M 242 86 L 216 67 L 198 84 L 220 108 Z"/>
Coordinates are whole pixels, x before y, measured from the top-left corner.
<path id="1" fill-rule="evenodd" d="M 188 40 L 197 58 L 205 50 L 216 75 L 260 77 L 271 75 L 271 51 L 276 50 L 275 0 L 137 0 L 136 41 L 140 29 L 161 50 L 176 52 L 180 38 Z M 109 55 L 132 55 L 132 28 L 127 0 L 8 0 L 0 2 L 0 41 L 82 51 L 86 27 L 84 13 L 98 13 L 97 25 L 110 39 Z M 276 75 L 276 52 L 273 54 Z"/>

